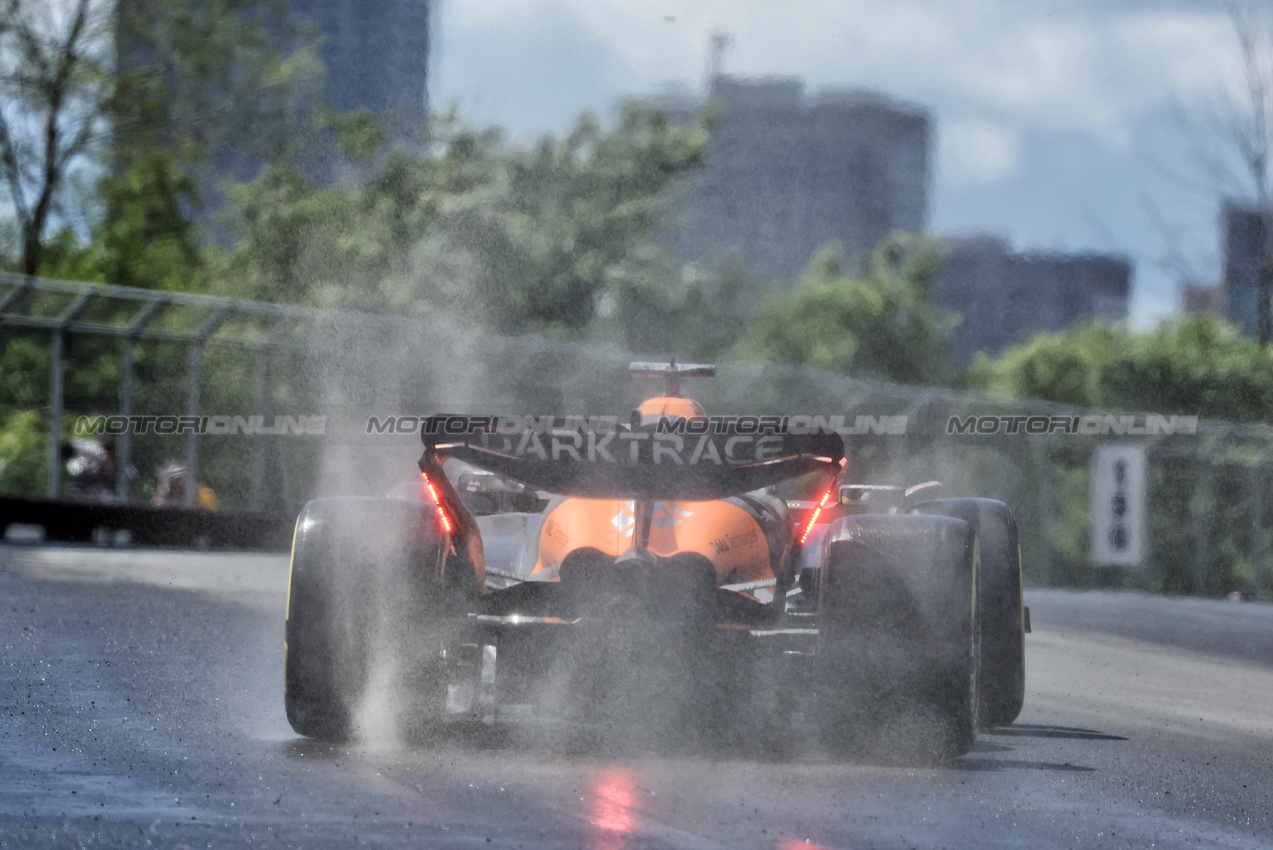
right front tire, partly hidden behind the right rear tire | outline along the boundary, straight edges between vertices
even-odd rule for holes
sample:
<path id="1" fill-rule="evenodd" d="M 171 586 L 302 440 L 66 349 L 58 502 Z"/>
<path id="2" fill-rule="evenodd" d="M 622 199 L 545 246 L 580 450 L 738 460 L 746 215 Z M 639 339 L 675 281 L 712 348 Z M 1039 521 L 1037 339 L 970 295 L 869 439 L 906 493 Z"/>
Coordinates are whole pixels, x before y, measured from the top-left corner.
<path id="1" fill-rule="evenodd" d="M 1002 501 L 937 499 L 911 508 L 919 514 L 962 519 L 978 537 L 976 607 L 981 627 L 978 725 L 1008 725 L 1026 699 L 1025 617 L 1017 523 Z"/>

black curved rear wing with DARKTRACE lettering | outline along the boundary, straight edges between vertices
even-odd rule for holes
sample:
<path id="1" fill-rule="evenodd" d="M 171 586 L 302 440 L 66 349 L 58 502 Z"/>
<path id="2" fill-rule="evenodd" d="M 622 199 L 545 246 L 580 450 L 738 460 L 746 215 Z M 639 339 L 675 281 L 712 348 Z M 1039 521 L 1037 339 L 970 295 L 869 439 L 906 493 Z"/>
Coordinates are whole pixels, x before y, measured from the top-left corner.
<path id="1" fill-rule="evenodd" d="M 421 467 L 457 458 L 536 490 L 587 499 L 705 501 L 808 473 L 835 475 L 838 434 L 763 430 L 756 417 L 722 424 L 662 419 L 647 425 L 495 416 L 434 416 L 421 429 Z"/>

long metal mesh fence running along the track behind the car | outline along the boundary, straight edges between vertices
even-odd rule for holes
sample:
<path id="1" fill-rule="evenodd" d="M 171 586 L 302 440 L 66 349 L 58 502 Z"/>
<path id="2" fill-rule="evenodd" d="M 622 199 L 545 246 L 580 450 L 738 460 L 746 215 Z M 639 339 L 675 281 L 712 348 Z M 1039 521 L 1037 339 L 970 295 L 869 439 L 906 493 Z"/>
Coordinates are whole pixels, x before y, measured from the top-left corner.
<path id="1" fill-rule="evenodd" d="M 118 438 L 120 499 L 139 496 L 125 476 L 129 464 L 176 453 L 225 504 L 280 513 L 295 512 L 313 495 L 383 492 L 411 476 L 419 439 L 368 433 L 373 416 L 624 415 L 654 389 L 626 375 L 628 361 L 672 354 L 634 358 L 617 347 L 502 337 L 452 321 L 3 275 L 0 328 L 6 338 L 43 335 L 41 345 L 47 345 L 41 410 L 48 429 L 48 495 L 64 491 L 59 443 L 80 415 L 222 415 L 248 424 L 251 416 L 266 422 L 292 416 L 289 426 L 320 416 L 321 434 L 285 428 L 284 434 L 256 429 L 251 435 Z M 90 387 L 71 380 L 69 387 L 67 377 L 78 372 L 99 380 Z M 723 415 L 843 416 L 850 425 L 863 424 L 864 433 L 847 438 L 857 480 L 937 478 L 946 495 L 1007 501 L 1018 518 L 1027 579 L 1035 584 L 1268 594 L 1273 429 L 1207 420 L 1192 429 L 1146 429 L 1144 412 L 1078 410 L 749 363 L 718 364 L 717 379 L 689 389 Z M 881 433 L 896 417 L 905 417 L 905 428 Z M 966 426 L 970 417 L 1016 417 L 1020 428 L 978 433 Z M 1030 417 L 1051 425 L 1031 433 Z M 1060 420 L 1102 428 L 1058 428 Z M 1102 566 L 1090 557 L 1092 462 L 1106 445 L 1143 447 L 1147 517 L 1139 566 Z"/>

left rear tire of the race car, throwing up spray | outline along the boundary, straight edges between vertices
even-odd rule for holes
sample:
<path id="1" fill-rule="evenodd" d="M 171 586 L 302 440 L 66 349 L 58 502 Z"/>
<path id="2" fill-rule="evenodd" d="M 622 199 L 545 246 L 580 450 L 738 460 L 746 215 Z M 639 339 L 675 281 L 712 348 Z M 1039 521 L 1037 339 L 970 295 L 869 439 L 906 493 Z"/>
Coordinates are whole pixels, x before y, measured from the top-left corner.
<path id="1" fill-rule="evenodd" d="M 349 741 L 440 715 L 443 650 L 463 588 L 437 578 L 449 546 L 435 509 L 397 499 L 318 499 L 292 547 L 284 662 L 288 721 Z M 476 582 L 474 582 L 475 584 Z"/>

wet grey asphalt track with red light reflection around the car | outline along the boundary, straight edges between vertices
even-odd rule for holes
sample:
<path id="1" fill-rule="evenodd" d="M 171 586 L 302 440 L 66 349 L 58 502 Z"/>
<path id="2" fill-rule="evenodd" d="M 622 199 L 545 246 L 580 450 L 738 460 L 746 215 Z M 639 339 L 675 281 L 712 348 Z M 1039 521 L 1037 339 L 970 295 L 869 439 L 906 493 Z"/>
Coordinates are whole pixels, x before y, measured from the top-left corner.
<path id="1" fill-rule="evenodd" d="M 1273 606 L 1034 592 L 1026 710 L 945 769 L 328 747 L 286 559 L 0 546 L 0 847 L 1269 847 Z"/>

